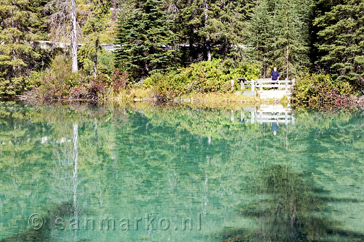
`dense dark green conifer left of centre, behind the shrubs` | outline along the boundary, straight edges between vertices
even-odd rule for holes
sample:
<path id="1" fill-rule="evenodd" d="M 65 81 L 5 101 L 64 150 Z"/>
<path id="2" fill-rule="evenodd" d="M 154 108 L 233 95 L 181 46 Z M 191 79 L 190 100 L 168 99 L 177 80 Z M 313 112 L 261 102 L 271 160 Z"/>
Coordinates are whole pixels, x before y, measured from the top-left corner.
<path id="1" fill-rule="evenodd" d="M 170 30 L 166 12 L 160 0 L 128 1 L 119 17 L 116 44 L 116 65 L 134 77 L 145 77 L 150 72 L 170 67 L 174 34 Z M 128 11 L 131 6 L 134 9 Z"/>

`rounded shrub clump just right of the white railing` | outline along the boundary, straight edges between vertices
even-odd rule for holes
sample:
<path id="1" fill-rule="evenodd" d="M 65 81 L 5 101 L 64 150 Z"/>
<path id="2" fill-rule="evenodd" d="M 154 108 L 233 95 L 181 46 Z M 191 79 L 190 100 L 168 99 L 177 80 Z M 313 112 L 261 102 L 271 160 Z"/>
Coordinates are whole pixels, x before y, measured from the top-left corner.
<path id="1" fill-rule="evenodd" d="M 350 102 L 353 93 L 347 81 L 333 81 L 325 74 L 305 74 L 299 76 L 294 85 L 291 103 L 312 108 L 340 106 Z"/>

